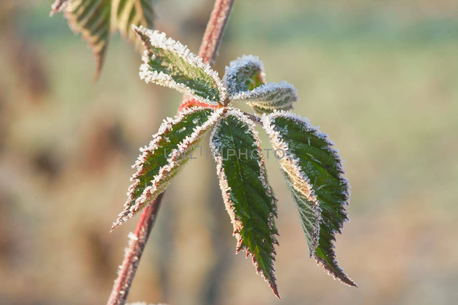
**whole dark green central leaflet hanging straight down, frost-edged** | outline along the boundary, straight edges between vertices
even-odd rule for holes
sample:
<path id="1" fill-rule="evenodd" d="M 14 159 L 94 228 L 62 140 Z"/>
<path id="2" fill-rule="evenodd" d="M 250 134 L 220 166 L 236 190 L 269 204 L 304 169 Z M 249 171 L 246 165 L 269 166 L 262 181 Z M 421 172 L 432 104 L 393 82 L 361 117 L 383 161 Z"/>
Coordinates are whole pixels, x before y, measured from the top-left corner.
<path id="1" fill-rule="evenodd" d="M 277 198 L 267 181 L 261 141 L 254 123 L 239 109 L 225 113 L 213 129 L 210 147 L 224 204 L 234 225 L 237 252 L 251 255 L 256 272 L 279 298 L 273 262 Z"/>

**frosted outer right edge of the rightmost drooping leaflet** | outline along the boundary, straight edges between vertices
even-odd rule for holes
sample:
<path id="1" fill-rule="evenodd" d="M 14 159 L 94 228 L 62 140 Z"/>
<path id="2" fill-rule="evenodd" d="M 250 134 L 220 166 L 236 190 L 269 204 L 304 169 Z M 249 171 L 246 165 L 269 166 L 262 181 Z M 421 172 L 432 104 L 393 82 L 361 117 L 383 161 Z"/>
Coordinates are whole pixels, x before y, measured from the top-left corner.
<path id="1" fill-rule="evenodd" d="M 341 208 L 341 212 L 343 214 L 346 215 L 346 218 L 343 219 L 340 223 L 339 223 L 339 227 L 340 229 L 343 228 L 344 226 L 344 223 L 346 221 L 349 221 L 349 218 L 347 216 L 347 212 L 345 210 L 345 206 L 349 206 L 349 198 L 350 198 L 350 184 L 349 184 L 349 181 L 346 177 L 343 177 L 342 175 L 345 174 L 345 171 L 344 171 L 344 166 L 343 166 L 343 160 L 341 158 L 341 156 L 338 154 L 338 150 L 333 148 L 333 146 L 335 145 L 335 143 L 333 142 L 333 140 L 329 139 L 329 135 L 328 134 L 325 134 L 325 133 L 322 133 L 319 129 L 318 126 L 314 127 L 311 123 L 310 123 L 310 120 L 308 118 L 302 118 L 301 116 L 293 113 L 293 112 L 289 112 L 289 111 L 283 111 L 283 110 L 280 110 L 280 111 L 276 111 L 274 110 L 273 113 L 269 114 L 269 115 L 262 115 L 262 122 L 265 125 L 267 126 L 271 126 L 270 123 L 272 123 L 271 120 L 273 120 L 273 118 L 275 117 L 279 117 L 279 116 L 283 116 L 285 118 L 291 118 L 291 119 L 295 119 L 295 120 L 298 120 L 300 121 L 304 128 L 306 130 L 309 130 L 311 132 L 313 132 L 317 137 L 319 137 L 320 139 L 324 140 L 326 143 L 327 143 L 327 149 L 329 150 L 329 152 L 331 152 L 334 157 L 335 157 L 335 160 L 337 160 L 336 162 L 336 169 L 338 170 L 339 172 L 339 179 L 344 182 L 344 185 L 345 185 L 345 191 L 344 191 L 344 196 L 345 196 L 345 200 L 343 202 L 340 203 L 340 208 Z M 266 128 L 264 128 L 266 129 Z M 274 132 L 273 128 L 269 129 L 270 130 L 270 134 L 272 134 Z M 267 131 L 267 129 L 266 129 Z M 269 134 L 269 132 L 267 131 L 267 133 Z M 270 138 L 270 135 L 269 134 L 269 138 Z M 275 137 L 274 137 L 275 138 Z M 280 139 L 280 141 L 284 142 L 283 140 Z M 286 150 L 285 150 L 286 151 Z M 313 187 L 311 185 L 311 187 Z M 344 270 L 342 268 L 339 267 L 338 265 L 338 261 L 335 259 L 336 257 L 336 253 L 332 250 L 333 248 L 335 248 L 334 244 L 333 244 L 333 241 L 336 241 L 335 239 L 335 234 L 336 233 L 339 233 L 341 234 L 341 231 L 340 230 L 332 230 L 332 235 L 333 235 L 333 238 L 331 239 L 330 241 L 330 244 L 331 244 L 331 255 L 332 255 L 332 260 L 333 260 L 333 263 L 336 265 L 336 267 L 339 269 L 339 271 L 342 273 L 343 275 L 343 279 L 342 278 L 339 278 L 338 275 L 329 270 L 327 267 L 326 267 L 326 264 L 325 262 L 323 262 L 319 257 L 316 257 L 316 255 L 314 255 L 315 257 L 315 260 L 316 260 L 316 263 L 318 265 L 321 265 L 322 268 L 324 269 L 325 272 L 327 272 L 327 274 L 331 275 L 334 279 L 338 280 L 339 282 L 341 282 L 342 284 L 345 284 L 345 285 L 348 285 L 348 286 L 354 286 L 354 287 L 358 287 L 354 281 L 348 277 L 348 275 L 346 273 L 344 273 Z"/>

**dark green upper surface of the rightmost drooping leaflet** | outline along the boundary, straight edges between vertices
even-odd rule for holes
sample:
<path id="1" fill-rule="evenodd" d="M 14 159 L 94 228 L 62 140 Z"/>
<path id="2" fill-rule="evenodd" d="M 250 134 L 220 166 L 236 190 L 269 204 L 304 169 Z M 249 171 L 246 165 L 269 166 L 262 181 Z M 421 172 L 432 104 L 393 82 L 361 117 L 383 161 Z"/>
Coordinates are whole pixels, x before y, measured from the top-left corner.
<path id="1" fill-rule="evenodd" d="M 303 172 L 302 175 L 312 187 L 311 198 L 318 200 L 322 210 L 318 246 L 314 253 L 317 262 L 342 283 L 356 286 L 338 266 L 333 250 L 335 233 L 340 233 L 344 222 L 348 220 L 345 206 L 349 201 L 349 184 L 342 177 L 344 170 L 337 151 L 332 148 L 333 143 L 307 120 L 289 112 L 275 112 L 264 117 L 263 122 L 273 146 L 287 147 L 294 153 L 294 166 Z M 286 176 L 287 181 L 297 179 L 293 171 L 287 170 Z M 296 203 L 300 201 L 294 187 L 291 193 Z M 304 213 L 304 209 L 298 205 L 298 212 L 304 218 L 302 222 L 306 224 L 308 215 L 312 214 Z"/>

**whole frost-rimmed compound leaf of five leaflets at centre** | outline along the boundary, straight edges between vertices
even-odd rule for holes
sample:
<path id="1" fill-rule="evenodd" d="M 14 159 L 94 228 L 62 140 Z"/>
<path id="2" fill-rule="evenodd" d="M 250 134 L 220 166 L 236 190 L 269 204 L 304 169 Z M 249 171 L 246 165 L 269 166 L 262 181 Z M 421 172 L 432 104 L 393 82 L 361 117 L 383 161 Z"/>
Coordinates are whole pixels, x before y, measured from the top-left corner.
<path id="1" fill-rule="evenodd" d="M 286 83 L 265 83 L 261 61 L 252 55 L 232 61 L 223 80 L 202 59 L 164 33 L 134 27 L 146 47 L 140 77 L 169 86 L 204 107 L 185 108 L 167 118 L 148 146 L 141 148 L 125 209 L 113 228 L 151 203 L 179 173 L 190 152 L 213 125 L 210 148 L 216 161 L 224 205 L 237 239 L 236 252 L 251 256 L 256 272 L 279 297 L 275 248 L 278 245 L 277 197 L 267 180 L 261 141 L 262 125 L 296 205 L 310 256 L 344 284 L 356 286 L 335 260 L 333 241 L 347 218 L 349 183 L 342 161 L 327 134 L 308 119 L 284 109 L 297 101 Z M 262 118 L 228 102 L 247 102 Z M 214 105 L 217 105 L 216 107 Z M 225 106 L 224 106 L 225 105 Z M 268 114 L 266 114 L 266 112 Z"/>

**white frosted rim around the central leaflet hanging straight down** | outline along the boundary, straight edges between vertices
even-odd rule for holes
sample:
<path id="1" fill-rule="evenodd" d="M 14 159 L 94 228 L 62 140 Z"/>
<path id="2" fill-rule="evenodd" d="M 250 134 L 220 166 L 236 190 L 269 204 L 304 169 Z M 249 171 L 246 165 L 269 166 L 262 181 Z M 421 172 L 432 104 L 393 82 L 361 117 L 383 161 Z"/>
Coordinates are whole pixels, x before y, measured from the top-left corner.
<path id="1" fill-rule="evenodd" d="M 219 118 L 219 120 L 227 118 L 229 115 L 234 115 L 241 122 L 245 123 L 248 126 L 248 128 L 251 131 L 251 133 L 254 135 L 254 137 L 256 139 L 254 144 L 256 145 L 256 147 L 258 148 L 259 151 L 262 151 L 262 149 L 261 149 L 261 139 L 259 139 L 258 132 L 254 129 L 255 123 L 249 117 L 247 117 L 243 112 L 241 112 L 240 109 L 238 109 L 238 108 L 227 108 L 227 111 L 224 113 L 224 116 Z M 216 147 L 216 145 L 212 141 L 212 139 L 213 139 L 213 137 L 214 137 L 214 135 L 216 133 L 217 127 L 218 127 L 218 124 L 215 124 L 215 127 L 213 128 L 212 134 L 210 135 L 210 144 L 209 145 L 210 145 L 211 151 L 213 152 L 213 159 L 216 162 L 216 173 L 217 173 L 218 178 L 219 178 L 219 187 L 221 189 L 221 193 L 222 193 L 222 196 L 223 196 L 224 206 L 225 206 L 225 208 L 226 208 L 226 210 L 227 210 L 227 212 L 229 214 L 229 217 L 231 219 L 231 223 L 232 223 L 232 225 L 234 227 L 234 232 L 233 232 L 232 235 L 237 240 L 236 252 L 235 253 L 237 254 L 237 253 L 240 252 L 240 250 L 244 250 L 246 252 L 246 257 L 247 258 L 249 256 L 251 256 L 253 265 L 256 268 L 256 274 L 261 274 L 262 278 L 264 279 L 264 281 L 267 282 L 269 287 L 272 289 L 273 293 L 278 297 L 278 299 L 280 299 L 280 296 L 278 294 L 278 287 L 277 287 L 277 284 L 276 284 L 277 278 L 275 276 L 275 268 L 273 266 L 273 262 L 275 261 L 275 255 L 277 254 L 275 249 L 271 253 L 272 264 L 271 264 L 270 267 L 271 267 L 271 271 L 272 272 L 269 274 L 269 276 L 270 276 L 270 278 L 272 278 L 272 282 L 270 282 L 268 280 L 268 278 L 266 277 L 266 275 L 264 274 L 264 271 L 261 268 L 259 268 L 258 262 L 256 261 L 253 253 L 251 253 L 251 251 L 249 251 L 249 249 L 246 246 L 242 246 L 243 240 L 242 240 L 241 235 L 240 235 L 239 232 L 243 228 L 243 225 L 242 225 L 240 220 L 235 218 L 234 204 L 230 200 L 230 193 L 229 193 L 231 188 L 229 187 L 229 183 L 228 183 L 226 174 L 224 172 L 223 158 L 222 158 L 221 155 L 218 154 L 218 148 Z M 271 234 L 271 237 L 273 239 L 273 243 L 278 245 L 278 240 L 275 237 L 275 235 L 279 235 L 279 234 L 278 234 L 278 230 L 275 228 L 275 225 L 274 225 L 274 221 L 278 216 L 278 208 L 277 208 L 277 204 L 276 204 L 277 201 L 278 201 L 278 198 L 275 195 L 275 193 L 273 193 L 272 187 L 267 182 L 265 159 L 262 156 L 262 154 L 260 155 L 260 157 L 261 158 L 258 161 L 258 165 L 260 166 L 260 169 L 261 169 L 260 180 L 262 182 L 262 185 L 265 187 L 266 192 L 272 196 L 272 198 L 273 198 L 272 204 L 274 206 L 274 212 L 270 213 L 270 215 L 269 215 L 268 225 L 269 225 L 269 229 L 270 230 L 275 229 L 276 232 L 274 234 Z"/>

